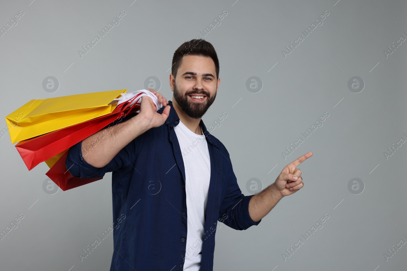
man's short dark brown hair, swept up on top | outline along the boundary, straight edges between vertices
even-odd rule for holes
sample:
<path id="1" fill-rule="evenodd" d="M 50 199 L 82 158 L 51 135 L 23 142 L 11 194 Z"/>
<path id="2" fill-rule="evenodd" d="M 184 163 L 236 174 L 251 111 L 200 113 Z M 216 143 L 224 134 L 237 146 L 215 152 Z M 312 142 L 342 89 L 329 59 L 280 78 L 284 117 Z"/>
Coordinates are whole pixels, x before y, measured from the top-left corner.
<path id="1" fill-rule="evenodd" d="M 173 63 L 171 67 L 171 73 L 174 77 L 177 77 L 179 67 L 182 65 L 182 59 L 185 55 L 191 56 L 204 56 L 210 57 L 215 63 L 216 80 L 219 78 L 219 60 L 216 54 L 215 48 L 212 44 L 204 39 L 191 39 L 186 41 L 178 47 L 174 52 Z"/>

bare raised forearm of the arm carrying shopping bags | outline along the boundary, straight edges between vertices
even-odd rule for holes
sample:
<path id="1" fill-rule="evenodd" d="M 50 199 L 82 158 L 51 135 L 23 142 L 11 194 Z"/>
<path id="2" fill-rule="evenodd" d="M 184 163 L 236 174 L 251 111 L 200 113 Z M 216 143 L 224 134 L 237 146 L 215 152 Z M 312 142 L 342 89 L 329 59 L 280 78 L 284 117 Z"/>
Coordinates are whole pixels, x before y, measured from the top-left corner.
<path id="1" fill-rule="evenodd" d="M 83 159 L 94 167 L 104 167 L 133 139 L 149 130 L 140 115 L 92 134 L 82 141 Z"/>

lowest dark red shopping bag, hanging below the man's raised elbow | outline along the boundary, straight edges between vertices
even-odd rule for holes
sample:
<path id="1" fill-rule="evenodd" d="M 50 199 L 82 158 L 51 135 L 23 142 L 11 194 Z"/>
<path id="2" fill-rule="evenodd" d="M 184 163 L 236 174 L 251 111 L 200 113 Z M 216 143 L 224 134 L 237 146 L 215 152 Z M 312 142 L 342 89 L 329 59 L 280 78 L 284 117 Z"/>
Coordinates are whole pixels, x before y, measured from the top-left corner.
<path id="1" fill-rule="evenodd" d="M 67 156 L 68 150 L 57 160 L 50 170 L 45 173 L 45 175 L 53 180 L 53 182 L 55 182 L 55 184 L 57 184 L 57 186 L 59 186 L 59 188 L 61 188 L 63 191 L 103 179 L 103 177 L 81 179 L 72 176 L 66 169 L 65 160 Z"/>

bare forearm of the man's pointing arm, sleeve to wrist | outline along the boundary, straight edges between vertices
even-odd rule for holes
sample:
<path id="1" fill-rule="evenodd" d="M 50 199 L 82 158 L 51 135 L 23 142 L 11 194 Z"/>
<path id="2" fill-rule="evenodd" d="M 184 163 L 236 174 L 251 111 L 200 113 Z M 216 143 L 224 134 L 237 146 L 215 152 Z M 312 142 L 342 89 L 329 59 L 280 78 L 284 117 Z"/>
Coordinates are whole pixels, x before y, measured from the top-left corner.
<path id="1" fill-rule="evenodd" d="M 274 184 L 271 184 L 250 199 L 250 217 L 254 222 L 259 221 L 265 217 L 282 198 L 282 195 L 274 188 Z"/>

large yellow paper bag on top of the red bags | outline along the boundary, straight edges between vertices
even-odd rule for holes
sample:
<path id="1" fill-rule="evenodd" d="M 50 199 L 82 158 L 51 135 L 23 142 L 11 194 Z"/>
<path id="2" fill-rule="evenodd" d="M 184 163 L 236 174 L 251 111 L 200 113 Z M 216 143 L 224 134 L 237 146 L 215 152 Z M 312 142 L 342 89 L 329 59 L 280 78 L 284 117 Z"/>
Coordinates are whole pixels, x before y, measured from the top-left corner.
<path id="1" fill-rule="evenodd" d="M 31 100 L 6 117 L 11 143 L 53 132 L 109 113 L 127 89 Z"/>

